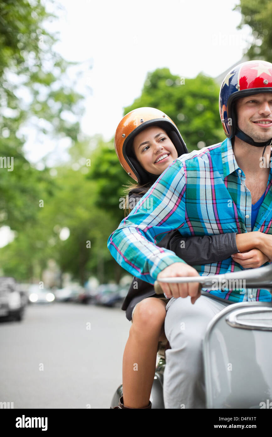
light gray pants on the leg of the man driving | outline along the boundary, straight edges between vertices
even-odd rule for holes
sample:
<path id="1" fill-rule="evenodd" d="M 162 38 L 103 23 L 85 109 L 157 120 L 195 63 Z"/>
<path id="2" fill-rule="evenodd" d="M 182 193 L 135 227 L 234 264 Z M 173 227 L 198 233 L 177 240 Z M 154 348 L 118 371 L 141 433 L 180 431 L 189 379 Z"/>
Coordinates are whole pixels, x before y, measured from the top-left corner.
<path id="1" fill-rule="evenodd" d="M 166 305 L 166 350 L 164 371 L 165 408 L 206 408 L 202 344 L 210 320 L 226 302 L 201 295 L 172 298 Z"/>

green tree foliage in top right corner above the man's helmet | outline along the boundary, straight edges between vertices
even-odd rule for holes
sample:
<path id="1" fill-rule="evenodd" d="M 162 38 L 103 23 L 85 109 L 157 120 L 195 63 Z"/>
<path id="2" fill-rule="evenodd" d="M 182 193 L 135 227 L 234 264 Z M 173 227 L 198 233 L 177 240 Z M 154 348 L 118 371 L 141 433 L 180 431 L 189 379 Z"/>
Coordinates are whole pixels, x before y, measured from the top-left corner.
<path id="1" fill-rule="evenodd" d="M 271 0 L 240 0 L 234 8 L 242 14 L 241 23 L 252 29 L 254 42 L 246 53 L 249 59 L 264 59 L 272 62 L 272 2 Z"/>

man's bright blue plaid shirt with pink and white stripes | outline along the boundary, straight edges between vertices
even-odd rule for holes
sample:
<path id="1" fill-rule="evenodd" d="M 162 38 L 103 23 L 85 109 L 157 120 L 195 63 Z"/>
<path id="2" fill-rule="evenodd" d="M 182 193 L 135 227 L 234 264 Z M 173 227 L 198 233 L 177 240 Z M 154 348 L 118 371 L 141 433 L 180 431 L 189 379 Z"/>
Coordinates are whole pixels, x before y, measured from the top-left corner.
<path id="1" fill-rule="evenodd" d="M 107 246 L 121 267 L 154 284 L 165 267 L 184 262 L 171 250 L 156 246 L 174 229 L 179 229 L 181 243 L 182 236 L 251 232 L 251 194 L 230 139 L 174 160 L 110 235 Z M 271 169 L 253 231 L 272 233 Z M 243 270 L 231 257 L 193 267 L 200 275 Z M 202 291 L 228 302 L 272 301 L 269 291 L 257 288 Z"/>

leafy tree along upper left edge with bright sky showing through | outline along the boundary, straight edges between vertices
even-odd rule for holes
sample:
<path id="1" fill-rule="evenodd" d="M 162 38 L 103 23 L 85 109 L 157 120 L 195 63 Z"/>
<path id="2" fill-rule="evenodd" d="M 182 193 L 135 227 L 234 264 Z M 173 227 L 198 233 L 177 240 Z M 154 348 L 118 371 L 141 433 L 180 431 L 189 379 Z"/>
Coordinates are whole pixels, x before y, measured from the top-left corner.
<path id="1" fill-rule="evenodd" d="M 0 226 L 21 229 L 34 221 L 38 200 L 52 190 L 48 170 L 24 158 L 22 128 L 37 135 L 76 141 L 82 96 L 66 77 L 69 63 L 54 52 L 56 42 L 44 28 L 53 19 L 40 0 L 0 2 Z M 13 169 L 8 168 L 8 163 Z"/>

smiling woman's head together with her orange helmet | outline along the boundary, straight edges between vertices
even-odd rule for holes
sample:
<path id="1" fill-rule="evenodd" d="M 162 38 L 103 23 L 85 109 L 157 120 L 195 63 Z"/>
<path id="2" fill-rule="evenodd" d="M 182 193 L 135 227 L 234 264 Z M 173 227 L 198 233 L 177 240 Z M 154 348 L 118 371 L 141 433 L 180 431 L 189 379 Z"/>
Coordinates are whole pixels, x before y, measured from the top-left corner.
<path id="1" fill-rule="evenodd" d="M 174 159 L 188 153 L 173 121 L 162 111 L 148 107 L 124 116 L 115 132 L 114 147 L 124 170 L 141 187 L 151 186 Z M 155 163 L 165 154 L 168 157 Z"/>

